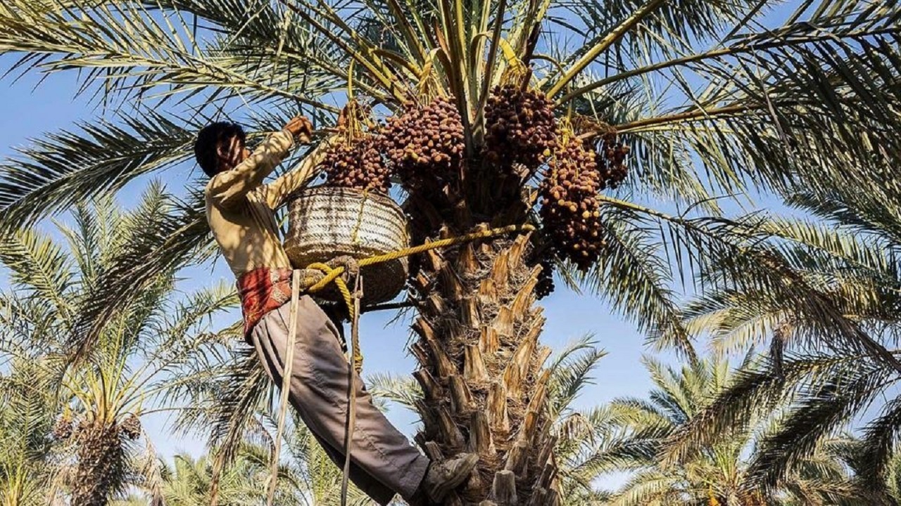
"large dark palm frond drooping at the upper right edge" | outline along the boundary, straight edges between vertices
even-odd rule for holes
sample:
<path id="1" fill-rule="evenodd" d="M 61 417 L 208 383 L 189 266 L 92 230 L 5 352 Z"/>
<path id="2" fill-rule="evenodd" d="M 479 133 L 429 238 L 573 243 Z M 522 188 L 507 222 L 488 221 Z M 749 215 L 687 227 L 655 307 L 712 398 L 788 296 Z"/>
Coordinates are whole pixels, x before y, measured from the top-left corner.
<path id="1" fill-rule="evenodd" d="M 895 127 L 882 129 L 898 121 L 890 112 L 899 99 L 893 85 L 901 61 L 892 32 L 897 13 L 873 13 L 861 21 L 869 24 L 868 32 L 849 36 L 846 26 L 858 14 L 850 10 L 833 20 L 846 39 L 765 49 L 767 42 L 758 37 L 753 43 L 763 42 L 764 49 L 696 68 L 709 84 L 691 96 L 692 105 L 617 129 L 680 131 L 711 174 L 744 174 L 786 194 L 851 184 L 854 176 L 843 168 L 849 164 L 878 174 L 896 152 L 896 139 L 887 136 Z M 771 36 L 790 40 L 794 29 Z M 868 123 L 873 128 L 861 135 Z M 874 146 L 884 147 L 881 157 L 872 156 Z"/>

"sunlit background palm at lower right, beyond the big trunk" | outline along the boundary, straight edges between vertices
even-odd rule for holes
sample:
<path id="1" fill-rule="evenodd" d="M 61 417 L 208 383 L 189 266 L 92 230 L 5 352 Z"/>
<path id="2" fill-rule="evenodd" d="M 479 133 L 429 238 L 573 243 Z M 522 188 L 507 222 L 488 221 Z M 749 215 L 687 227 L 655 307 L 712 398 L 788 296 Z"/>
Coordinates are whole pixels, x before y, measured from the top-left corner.
<path id="1" fill-rule="evenodd" d="M 638 450 L 614 469 L 633 474 L 610 504 L 864 504 L 863 493 L 833 449 L 837 441 L 824 441 L 789 469 L 778 490 L 750 479 L 749 456 L 753 462 L 760 438 L 779 429 L 778 417 L 752 419 L 741 429 L 728 430 L 716 444 L 699 448 L 689 458 L 661 459 L 669 438 L 703 413 L 734 375 L 725 361 L 705 359 L 679 369 L 649 358 L 644 362 L 655 385 L 648 398 L 615 400 L 606 406 L 622 428 L 617 444 Z"/>

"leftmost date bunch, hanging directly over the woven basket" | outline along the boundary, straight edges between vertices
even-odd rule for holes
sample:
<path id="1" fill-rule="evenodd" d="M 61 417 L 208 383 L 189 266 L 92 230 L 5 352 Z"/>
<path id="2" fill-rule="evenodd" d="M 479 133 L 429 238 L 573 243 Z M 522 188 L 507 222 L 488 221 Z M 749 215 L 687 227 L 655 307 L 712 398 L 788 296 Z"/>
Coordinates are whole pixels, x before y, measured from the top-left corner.
<path id="1" fill-rule="evenodd" d="M 377 129 L 369 109 L 351 100 L 338 119 L 338 139 L 326 151 L 320 167 L 326 185 L 387 194 L 391 171 L 379 151 Z"/>

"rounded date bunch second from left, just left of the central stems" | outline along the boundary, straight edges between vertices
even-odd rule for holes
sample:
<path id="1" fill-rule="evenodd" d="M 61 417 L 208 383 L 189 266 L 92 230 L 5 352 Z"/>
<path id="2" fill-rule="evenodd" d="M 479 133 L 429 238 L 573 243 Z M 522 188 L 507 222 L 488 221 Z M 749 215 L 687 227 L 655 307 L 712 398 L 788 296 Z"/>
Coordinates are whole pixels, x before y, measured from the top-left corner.
<path id="1" fill-rule="evenodd" d="M 390 166 L 409 190 L 455 176 L 466 148 L 457 106 L 438 96 L 424 106 L 407 106 L 388 118 L 379 136 Z"/>

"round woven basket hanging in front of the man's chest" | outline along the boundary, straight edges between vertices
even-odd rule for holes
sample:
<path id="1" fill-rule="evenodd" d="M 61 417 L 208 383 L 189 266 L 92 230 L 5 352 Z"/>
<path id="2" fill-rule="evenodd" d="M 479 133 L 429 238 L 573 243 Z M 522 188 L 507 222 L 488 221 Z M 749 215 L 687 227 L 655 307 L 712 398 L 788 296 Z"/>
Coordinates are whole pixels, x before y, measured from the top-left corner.
<path id="1" fill-rule="evenodd" d="M 285 250 L 296 268 L 345 255 L 357 259 L 373 257 L 410 245 L 404 212 L 382 195 L 317 186 L 298 194 L 288 210 Z M 406 258 L 363 267 L 360 303 L 370 305 L 394 299 L 404 289 L 406 273 Z M 334 285 L 315 296 L 341 300 Z"/>

